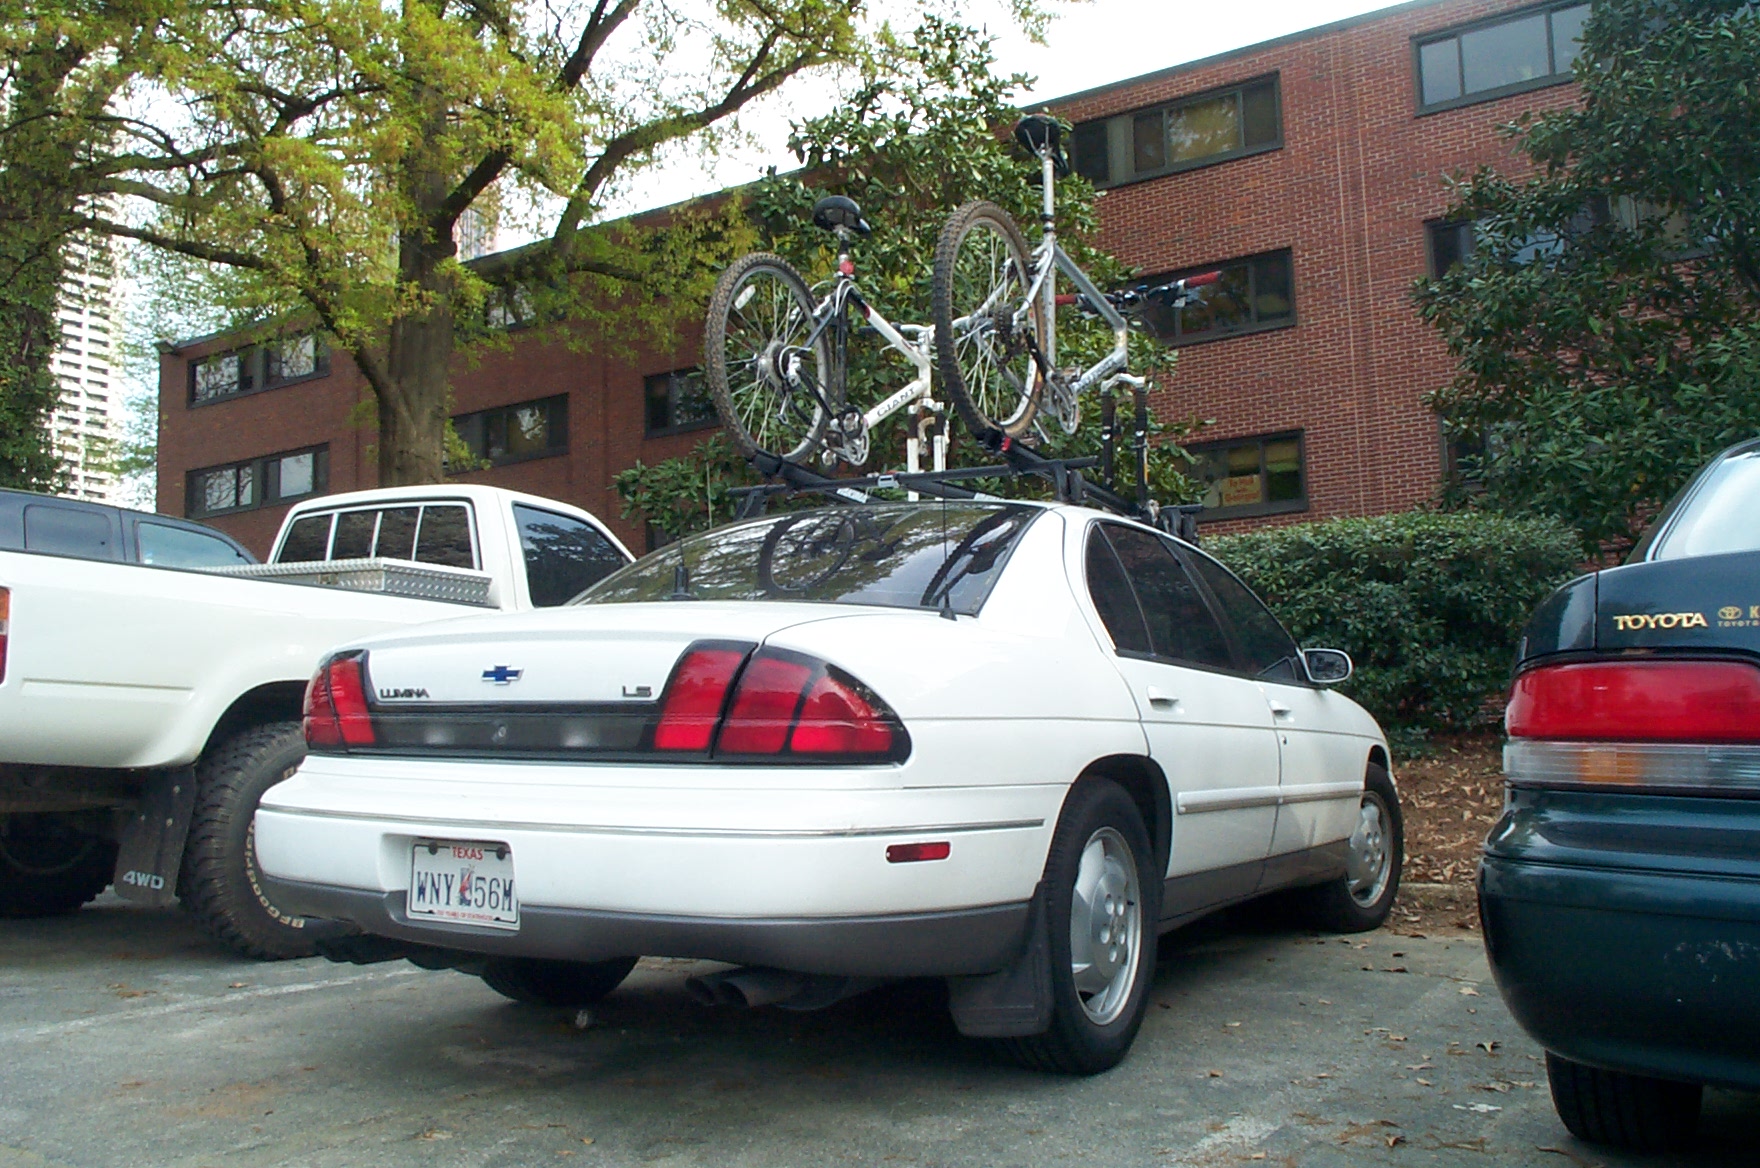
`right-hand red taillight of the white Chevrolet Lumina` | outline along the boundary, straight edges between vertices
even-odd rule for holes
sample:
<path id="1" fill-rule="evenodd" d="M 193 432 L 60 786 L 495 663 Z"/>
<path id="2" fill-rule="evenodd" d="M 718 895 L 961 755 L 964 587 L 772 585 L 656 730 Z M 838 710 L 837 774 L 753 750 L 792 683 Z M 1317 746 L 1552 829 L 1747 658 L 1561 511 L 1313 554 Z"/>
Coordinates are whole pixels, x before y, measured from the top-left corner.
<path id="1" fill-rule="evenodd" d="M 817 658 L 702 642 L 660 697 L 656 751 L 778 762 L 898 762 L 910 737 L 868 686 Z"/>

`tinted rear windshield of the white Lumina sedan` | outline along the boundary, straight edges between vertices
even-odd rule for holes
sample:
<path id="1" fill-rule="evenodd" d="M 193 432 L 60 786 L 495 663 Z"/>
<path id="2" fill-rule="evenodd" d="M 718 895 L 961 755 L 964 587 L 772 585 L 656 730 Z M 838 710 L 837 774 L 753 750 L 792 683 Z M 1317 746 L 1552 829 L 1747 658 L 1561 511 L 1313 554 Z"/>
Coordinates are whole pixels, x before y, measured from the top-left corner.
<path id="1" fill-rule="evenodd" d="M 664 547 L 572 603 L 808 600 L 977 616 L 1038 514 L 1016 503 L 880 503 L 774 515 Z"/>

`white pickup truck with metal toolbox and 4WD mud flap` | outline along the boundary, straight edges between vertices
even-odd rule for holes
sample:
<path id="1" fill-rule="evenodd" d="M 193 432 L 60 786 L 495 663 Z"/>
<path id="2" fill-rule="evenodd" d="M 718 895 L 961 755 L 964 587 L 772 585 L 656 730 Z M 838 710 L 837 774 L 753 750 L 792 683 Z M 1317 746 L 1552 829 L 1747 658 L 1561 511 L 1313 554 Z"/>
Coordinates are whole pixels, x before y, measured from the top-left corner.
<path id="1" fill-rule="evenodd" d="M 215 572 L 0 551 L 0 916 L 114 881 L 252 957 L 310 953 L 262 894 L 252 816 L 304 756 L 324 653 L 558 605 L 628 561 L 588 512 L 480 485 L 315 498 L 268 563 Z"/>

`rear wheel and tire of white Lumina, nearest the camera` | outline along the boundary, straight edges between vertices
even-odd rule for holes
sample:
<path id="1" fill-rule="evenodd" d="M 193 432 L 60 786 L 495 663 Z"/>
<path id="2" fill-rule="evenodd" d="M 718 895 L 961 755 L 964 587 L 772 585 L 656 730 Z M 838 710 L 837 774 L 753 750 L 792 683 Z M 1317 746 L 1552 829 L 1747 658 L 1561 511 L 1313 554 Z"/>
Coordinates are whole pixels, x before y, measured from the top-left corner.
<path id="1" fill-rule="evenodd" d="M 1070 788 L 1045 858 L 1051 1027 L 1005 1040 L 1021 1064 L 1096 1075 L 1130 1052 L 1155 980 L 1160 894 L 1155 848 L 1125 788 Z"/>

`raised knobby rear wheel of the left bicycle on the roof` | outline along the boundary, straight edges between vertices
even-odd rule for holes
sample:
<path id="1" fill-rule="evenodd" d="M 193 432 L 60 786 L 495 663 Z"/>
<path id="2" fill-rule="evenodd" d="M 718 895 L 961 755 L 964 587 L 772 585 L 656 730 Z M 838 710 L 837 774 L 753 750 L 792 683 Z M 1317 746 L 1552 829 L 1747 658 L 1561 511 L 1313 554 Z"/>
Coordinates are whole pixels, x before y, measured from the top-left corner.
<path id="1" fill-rule="evenodd" d="M 715 410 L 746 454 L 796 463 L 818 449 L 841 403 L 831 387 L 831 348 L 824 334 L 810 345 L 811 334 L 813 294 L 780 255 L 741 257 L 715 283 L 704 368 Z"/>

